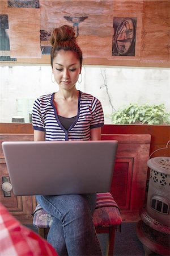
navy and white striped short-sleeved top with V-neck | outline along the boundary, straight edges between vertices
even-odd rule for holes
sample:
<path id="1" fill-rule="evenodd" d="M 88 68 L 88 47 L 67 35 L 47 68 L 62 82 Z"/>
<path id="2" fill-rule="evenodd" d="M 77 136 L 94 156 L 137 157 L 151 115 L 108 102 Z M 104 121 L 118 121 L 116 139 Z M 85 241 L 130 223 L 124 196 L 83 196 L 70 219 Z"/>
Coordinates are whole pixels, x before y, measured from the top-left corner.
<path id="1" fill-rule="evenodd" d="M 32 110 L 33 129 L 45 131 L 45 141 L 90 141 L 90 130 L 104 125 L 101 103 L 90 94 L 79 91 L 78 115 L 68 130 L 59 121 L 53 100 L 54 93 L 43 95 Z"/>

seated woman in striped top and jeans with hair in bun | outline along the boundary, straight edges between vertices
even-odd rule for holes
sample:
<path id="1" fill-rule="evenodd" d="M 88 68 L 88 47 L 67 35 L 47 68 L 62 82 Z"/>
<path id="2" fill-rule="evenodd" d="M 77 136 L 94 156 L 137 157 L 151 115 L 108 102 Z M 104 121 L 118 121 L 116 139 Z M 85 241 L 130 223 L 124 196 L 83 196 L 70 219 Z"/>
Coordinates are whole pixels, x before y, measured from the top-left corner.
<path id="1" fill-rule="evenodd" d="M 56 28 L 50 42 L 52 75 L 59 89 L 35 101 L 32 112 L 35 141 L 100 140 L 104 125 L 100 101 L 75 88 L 82 69 L 82 51 L 76 44 L 73 28 Z M 47 240 L 59 255 L 101 255 L 92 222 L 96 194 L 36 196 L 36 199 L 54 216 Z"/>

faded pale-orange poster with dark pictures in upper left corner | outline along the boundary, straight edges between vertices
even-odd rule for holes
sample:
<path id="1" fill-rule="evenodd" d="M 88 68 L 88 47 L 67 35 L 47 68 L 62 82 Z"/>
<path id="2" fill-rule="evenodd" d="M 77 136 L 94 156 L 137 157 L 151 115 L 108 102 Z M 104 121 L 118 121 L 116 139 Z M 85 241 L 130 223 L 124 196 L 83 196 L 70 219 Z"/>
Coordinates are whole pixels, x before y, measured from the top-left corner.
<path id="1" fill-rule="evenodd" d="M 2 0 L 0 10 L 0 61 L 41 58 L 39 0 Z"/>

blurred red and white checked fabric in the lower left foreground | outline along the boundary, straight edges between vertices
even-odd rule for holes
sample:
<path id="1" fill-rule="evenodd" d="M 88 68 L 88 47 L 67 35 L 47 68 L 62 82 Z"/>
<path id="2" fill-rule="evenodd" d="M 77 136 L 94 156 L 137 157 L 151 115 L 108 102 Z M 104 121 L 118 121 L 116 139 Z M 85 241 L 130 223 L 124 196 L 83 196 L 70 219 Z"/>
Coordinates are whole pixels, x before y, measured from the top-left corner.
<path id="1" fill-rule="evenodd" d="M 0 255 L 54 256 L 53 247 L 17 221 L 0 203 Z"/>

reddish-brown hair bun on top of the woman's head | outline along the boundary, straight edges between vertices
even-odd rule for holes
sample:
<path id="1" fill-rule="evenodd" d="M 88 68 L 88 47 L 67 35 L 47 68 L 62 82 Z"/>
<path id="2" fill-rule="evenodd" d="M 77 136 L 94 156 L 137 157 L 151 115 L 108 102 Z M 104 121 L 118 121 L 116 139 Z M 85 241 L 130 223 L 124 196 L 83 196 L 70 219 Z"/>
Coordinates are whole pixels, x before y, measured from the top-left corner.
<path id="1" fill-rule="evenodd" d="M 59 42 L 69 40 L 75 41 L 75 32 L 73 27 L 67 25 L 55 28 L 50 37 L 50 43 L 52 44 L 52 46 L 55 46 Z"/>

